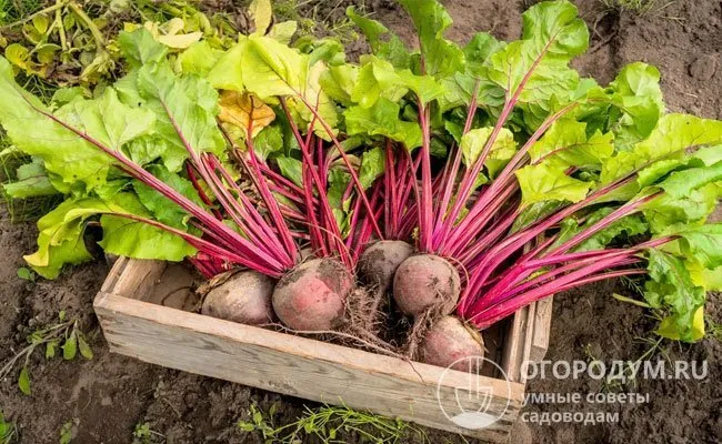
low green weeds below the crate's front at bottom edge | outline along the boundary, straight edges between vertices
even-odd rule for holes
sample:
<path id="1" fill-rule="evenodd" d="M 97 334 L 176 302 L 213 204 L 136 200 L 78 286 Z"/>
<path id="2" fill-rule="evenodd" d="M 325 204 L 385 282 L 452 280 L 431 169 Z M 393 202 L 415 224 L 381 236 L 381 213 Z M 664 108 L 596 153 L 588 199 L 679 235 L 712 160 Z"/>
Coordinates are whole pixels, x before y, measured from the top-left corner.
<path id="1" fill-rule="evenodd" d="M 307 407 L 304 414 L 295 422 L 275 425 L 274 416 L 278 404 L 268 412 L 257 404 L 250 407 L 250 421 L 239 421 L 241 431 L 259 433 L 265 443 L 295 444 L 307 440 L 320 440 L 324 444 L 345 443 L 343 435 L 358 435 L 362 442 L 391 444 L 404 442 L 410 434 L 415 434 L 428 442 L 425 433 L 401 420 L 391 420 L 370 412 L 354 411 L 348 407 L 323 406 Z"/>

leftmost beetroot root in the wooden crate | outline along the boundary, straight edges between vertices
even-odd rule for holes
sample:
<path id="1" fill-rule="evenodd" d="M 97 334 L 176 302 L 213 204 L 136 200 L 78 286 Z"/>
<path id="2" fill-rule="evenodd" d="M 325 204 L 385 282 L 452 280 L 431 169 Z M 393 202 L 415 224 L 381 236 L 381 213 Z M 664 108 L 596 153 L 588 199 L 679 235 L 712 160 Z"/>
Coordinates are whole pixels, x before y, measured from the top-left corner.
<path id="1" fill-rule="evenodd" d="M 242 324 L 268 324 L 275 319 L 271 307 L 274 284 L 255 271 L 235 273 L 205 294 L 201 312 Z"/>

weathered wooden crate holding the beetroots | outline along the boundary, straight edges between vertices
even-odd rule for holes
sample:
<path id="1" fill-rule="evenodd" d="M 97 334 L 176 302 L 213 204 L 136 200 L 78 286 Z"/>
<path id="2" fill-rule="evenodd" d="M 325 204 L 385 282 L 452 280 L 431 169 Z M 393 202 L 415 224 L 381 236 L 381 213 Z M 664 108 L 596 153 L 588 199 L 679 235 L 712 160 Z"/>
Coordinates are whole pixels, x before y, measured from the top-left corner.
<path id="1" fill-rule="evenodd" d="M 541 359 L 548 345 L 549 302 L 523 309 L 484 332 L 488 356 L 509 375 L 507 382 L 492 365 L 484 375 L 447 371 L 192 313 L 187 311 L 194 305 L 189 300 L 192 281 L 181 265 L 118 260 L 94 301 L 110 350 L 185 372 L 504 442 L 523 402 L 521 363 Z M 460 427 L 442 407 L 475 412 L 475 387 L 485 390 L 487 414 L 500 418 L 487 428 Z"/>

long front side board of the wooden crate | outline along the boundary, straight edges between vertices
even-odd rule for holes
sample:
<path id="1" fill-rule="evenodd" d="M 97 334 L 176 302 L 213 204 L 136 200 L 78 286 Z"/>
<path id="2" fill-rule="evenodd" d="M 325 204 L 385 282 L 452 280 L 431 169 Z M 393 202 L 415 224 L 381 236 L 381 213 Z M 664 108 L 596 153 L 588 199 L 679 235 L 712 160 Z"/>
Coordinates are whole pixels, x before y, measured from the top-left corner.
<path id="1" fill-rule="evenodd" d="M 113 352 L 487 441 L 505 440 L 523 401 L 522 384 L 409 363 L 116 294 L 101 292 L 94 306 Z M 470 431 L 444 417 L 440 403 L 449 412 L 458 411 L 458 403 L 475 411 L 480 386 L 490 394 L 487 413 L 505 410 L 500 421 Z"/>

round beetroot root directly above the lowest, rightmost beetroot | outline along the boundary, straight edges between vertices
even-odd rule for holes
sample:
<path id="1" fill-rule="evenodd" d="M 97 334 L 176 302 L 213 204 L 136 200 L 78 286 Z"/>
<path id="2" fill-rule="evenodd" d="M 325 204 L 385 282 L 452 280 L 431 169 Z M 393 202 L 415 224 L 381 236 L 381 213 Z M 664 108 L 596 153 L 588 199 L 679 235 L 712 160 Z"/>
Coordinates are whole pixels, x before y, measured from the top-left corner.
<path id="1" fill-rule="evenodd" d="M 459 272 L 445 259 L 419 254 L 403 261 L 393 279 L 393 299 L 399 309 L 418 317 L 427 311 L 449 314 L 457 306 Z"/>

